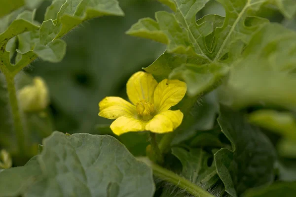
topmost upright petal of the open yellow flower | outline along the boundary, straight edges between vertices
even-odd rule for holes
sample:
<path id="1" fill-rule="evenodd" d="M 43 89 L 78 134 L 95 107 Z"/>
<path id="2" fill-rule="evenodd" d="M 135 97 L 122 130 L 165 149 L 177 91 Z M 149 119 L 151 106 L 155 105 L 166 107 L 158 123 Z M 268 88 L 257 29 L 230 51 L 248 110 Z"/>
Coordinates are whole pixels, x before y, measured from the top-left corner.
<path id="1" fill-rule="evenodd" d="M 153 93 L 157 81 L 147 72 L 136 72 L 129 78 L 126 84 L 127 96 L 135 105 L 140 100 L 147 100 L 153 103 Z"/>

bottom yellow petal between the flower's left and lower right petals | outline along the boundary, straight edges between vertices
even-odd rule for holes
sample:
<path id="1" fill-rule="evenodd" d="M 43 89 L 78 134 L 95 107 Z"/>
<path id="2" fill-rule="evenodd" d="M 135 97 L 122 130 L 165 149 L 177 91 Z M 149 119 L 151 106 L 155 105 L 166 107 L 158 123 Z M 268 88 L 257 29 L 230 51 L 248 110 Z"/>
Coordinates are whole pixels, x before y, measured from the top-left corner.
<path id="1" fill-rule="evenodd" d="M 131 117 L 119 117 L 111 124 L 110 128 L 116 135 L 129 131 L 145 131 L 146 122 Z"/>

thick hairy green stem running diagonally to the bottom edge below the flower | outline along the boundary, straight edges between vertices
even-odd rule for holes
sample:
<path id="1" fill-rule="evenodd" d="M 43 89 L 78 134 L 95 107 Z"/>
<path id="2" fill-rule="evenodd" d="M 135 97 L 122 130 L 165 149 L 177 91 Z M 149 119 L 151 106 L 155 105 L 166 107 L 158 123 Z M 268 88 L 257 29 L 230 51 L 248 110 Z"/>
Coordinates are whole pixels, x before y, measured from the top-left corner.
<path id="1" fill-rule="evenodd" d="M 215 197 L 203 190 L 198 185 L 195 185 L 188 181 L 187 179 L 175 174 L 174 172 L 167 170 L 157 164 L 152 163 L 148 158 L 142 157 L 137 158 L 139 161 L 144 162 L 149 167 L 152 168 L 154 176 L 160 178 L 163 181 L 174 184 L 175 186 L 184 189 L 189 194 L 194 197 Z"/>

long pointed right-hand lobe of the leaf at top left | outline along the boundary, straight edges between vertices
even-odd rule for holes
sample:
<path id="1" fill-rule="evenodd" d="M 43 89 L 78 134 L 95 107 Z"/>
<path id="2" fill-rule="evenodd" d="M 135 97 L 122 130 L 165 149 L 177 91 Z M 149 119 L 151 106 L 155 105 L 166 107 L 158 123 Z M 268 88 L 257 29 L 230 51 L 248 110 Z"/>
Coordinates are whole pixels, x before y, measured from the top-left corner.
<path id="1" fill-rule="evenodd" d="M 46 21 L 40 28 L 40 43 L 45 45 L 83 21 L 104 15 L 123 16 L 124 13 L 117 0 L 55 0 L 46 10 Z"/>

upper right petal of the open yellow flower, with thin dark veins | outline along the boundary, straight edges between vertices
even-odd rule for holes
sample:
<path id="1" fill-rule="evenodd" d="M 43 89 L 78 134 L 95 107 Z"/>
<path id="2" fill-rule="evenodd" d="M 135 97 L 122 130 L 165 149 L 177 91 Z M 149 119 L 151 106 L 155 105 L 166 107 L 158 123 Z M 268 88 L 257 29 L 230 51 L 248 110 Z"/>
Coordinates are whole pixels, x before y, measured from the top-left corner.
<path id="1" fill-rule="evenodd" d="M 158 112 L 166 111 L 183 99 L 187 85 L 177 79 L 162 80 L 154 91 L 154 106 Z"/>

